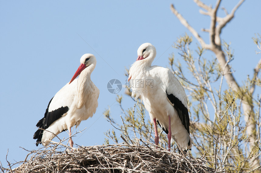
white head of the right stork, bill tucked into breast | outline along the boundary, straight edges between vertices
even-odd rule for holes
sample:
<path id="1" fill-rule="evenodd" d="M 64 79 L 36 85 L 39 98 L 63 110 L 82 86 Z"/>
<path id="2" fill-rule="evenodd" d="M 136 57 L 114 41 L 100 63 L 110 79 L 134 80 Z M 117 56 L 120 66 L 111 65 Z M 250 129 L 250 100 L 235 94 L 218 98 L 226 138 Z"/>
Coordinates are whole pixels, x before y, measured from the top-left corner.
<path id="1" fill-rule="evenodd" d="M 152 62 L 156 56 L 156 48 L 150 43 L 143 43 L 138 48 L 138 58 L 136 61 L 149 61 Z"/>

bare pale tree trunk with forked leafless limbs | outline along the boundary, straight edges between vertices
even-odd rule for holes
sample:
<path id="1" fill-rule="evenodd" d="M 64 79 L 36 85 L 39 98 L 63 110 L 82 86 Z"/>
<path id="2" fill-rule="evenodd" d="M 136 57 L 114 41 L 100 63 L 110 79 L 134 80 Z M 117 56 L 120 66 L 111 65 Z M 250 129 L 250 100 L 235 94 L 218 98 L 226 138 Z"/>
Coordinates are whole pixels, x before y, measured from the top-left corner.
<path id="1" fill-rule="evenodd" d="M 171 5 L 171 11 L 176 15 L 176 17 L 179 19 L 179 21 L 194 35 L 194 37 L 198 40 L 198 42 L 201 44 L 202 48 L 208 49 L 212 51 L 219 62 L 219 65 L 222 69 L 222 73 L 225 77 L 225 80 L 227 84 L 230 86 L 230 88 L 235 91 L 239 92 L 239 95 L 242 100 L 242 109 L 244 112 L 244 120 L 246 123 L 246 133 L 248 135 L 248 141 L 247 145 L 249 147 L 254 146 L 257 136 L 256 136 L 256 120 L 254 119 L 254 111 L 253 111 L 253 91 L 255 89 L 255 83 L 253 82 L 252 87 L 250 88 L 250 91 L 245 92 L 243 91 L 239 84 L 236 82 L 236 79 L 234 78 L 231 68 L 228 65 L 228 60 L 226 60 L 225 54 L 222 50 L 221 46 L 221 39 L 220 34 L 224 26 L 230 22 L 230 20 L 234 17 L 234 13 L 239 8 L 239 6 L 244 2 L 245 0 L 240 0 L 238 4 L 232 9 L 231 13 L 227 13 L 227 11 L 224 9 L 226 16 L 224 18 L 220 18 L 217 16 L 217 10 L 220 6 L 221 0 L 217 0 L 216 5 L 214 8 L 211 6 L 208 6 L 201 2 L 200 0 L 194 0 L 194 2 L 203 10 L 200 10 L 199 12 L 203 15 L 210 16 L 211 22 L 210 22 L 210 28 L 209 29 L 203 29 L 203 31 L 209 33 L 209 44 L 206 44 L 206 42 L 202 39 L 202 37 L 198 34 L 198 32 L 192 28 L 188 24 L 188 22 L 182 17 L 182 15 L 175 9 L 174 5 Z M 254 78 L 259 72 L 260 64 L 254 69 Z M 249 167 L 251 169 L 257 168 L 259 166 L 259 155 L 256 153 L 254 157 L 249 159 Z"/>

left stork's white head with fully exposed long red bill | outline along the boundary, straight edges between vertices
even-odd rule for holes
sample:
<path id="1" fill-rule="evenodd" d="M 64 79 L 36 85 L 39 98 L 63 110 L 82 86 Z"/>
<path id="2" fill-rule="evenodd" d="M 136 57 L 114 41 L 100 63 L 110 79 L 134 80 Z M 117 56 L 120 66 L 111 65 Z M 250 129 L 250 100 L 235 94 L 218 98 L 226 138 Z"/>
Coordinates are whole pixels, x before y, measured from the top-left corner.
<path id="1" fill-rule="evenodd" d="M 80 73 L 86 68 L 89 67 L 91 68 L 91 71 L 93 71 L 93 69 L 95 68 L 96 65 L 96 58 L 93 54 L 90 53 L 86 53 L 84 54 L 81 59 L 80 59 L 80 66 L 77 69 L 77 71 L 75 72 L 75 74 L 73 75 L 73 78 L 71 79 L 71 81 L 69 82 L 69 84 L 71 82 L 73 82 L 74 79 L 77 78 L 78 75 L 80 75 Z"/>

